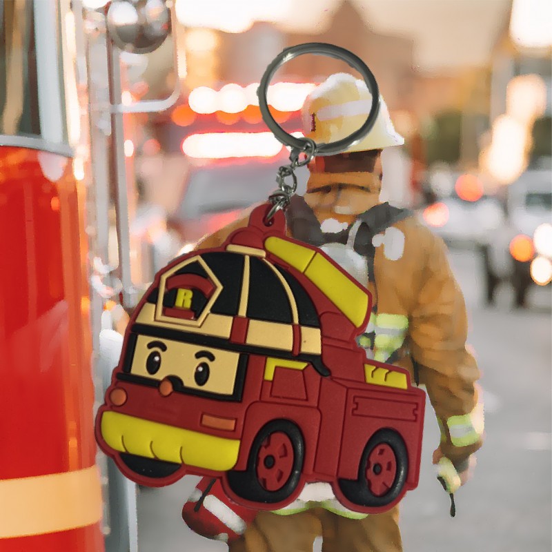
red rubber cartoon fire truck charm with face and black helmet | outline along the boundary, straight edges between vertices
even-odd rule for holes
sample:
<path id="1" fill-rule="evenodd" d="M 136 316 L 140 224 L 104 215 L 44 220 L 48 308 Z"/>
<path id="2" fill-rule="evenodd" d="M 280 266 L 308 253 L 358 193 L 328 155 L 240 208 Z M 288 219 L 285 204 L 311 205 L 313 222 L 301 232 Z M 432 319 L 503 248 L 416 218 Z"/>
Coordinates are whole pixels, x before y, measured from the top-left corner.
<path id="1" fill-rule="evenodd" d="M 269 209 L 157 274 L 97 440 L 147 486 L 208 475 L 238 504 L 275 510 L 329 482 L 348 509 L 390 509 L 418 482 L 425 395 L 357 346 L 368 290 L 286 237 L 282 212 L 267 226 Z"/>

